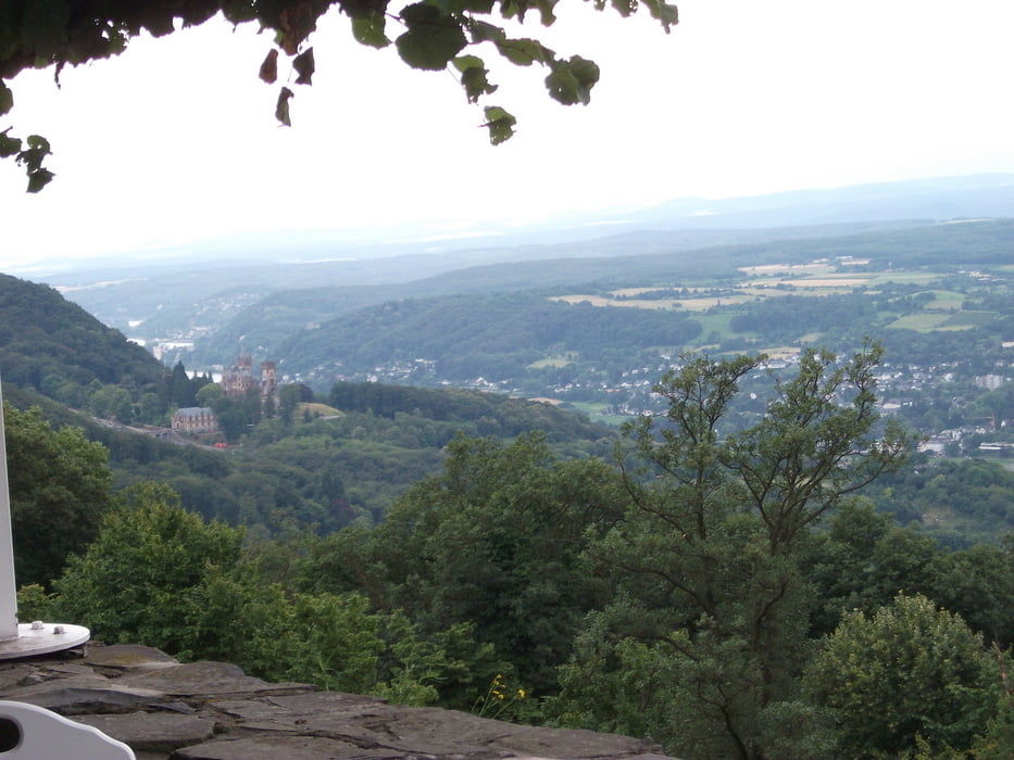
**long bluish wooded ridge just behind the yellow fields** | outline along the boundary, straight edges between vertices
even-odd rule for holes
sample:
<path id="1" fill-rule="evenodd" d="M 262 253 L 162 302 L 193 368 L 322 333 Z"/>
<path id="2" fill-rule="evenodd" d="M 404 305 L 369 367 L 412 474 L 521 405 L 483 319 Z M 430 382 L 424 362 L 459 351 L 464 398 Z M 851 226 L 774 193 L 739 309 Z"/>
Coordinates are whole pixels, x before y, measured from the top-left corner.
<path id="1" fill-rule="evenodd" d="M 1014 221 L 1005 219 L 976 224 L 909 220 L 750 231 L 625 232 L 579 243 L 525 246 L 517 251 L 518 255 L 530 256 L 524 261 L 467 266 L 399 284 L 317 283 L 313 288 L 279 290 L 249 305 L 237 304 L 234 313 L 222 314 L 217 329 L 196 342 L 192 360 L 221 363 L 240 343 L 280 357 L 291 346 L 289 339 L 299 340 L 303 329 L 403 299 L 536 289 L 544 292 L 552 288 L 608 289 L 687 279 L 717 282 L 738 278 L 738 266 L 805 262 L 819 256 L 871 257 L 882 266 L 956 258 L 1002 263 L 1012 237 Z M 556 255 L 548 257 L 549 253 Z M 403 264 L 409 266 L 411 262 L 405 259 Z M 160 320 L 170 316 L 160 314 Z M 153 326 L 149 326 L 151 329 Z"/>

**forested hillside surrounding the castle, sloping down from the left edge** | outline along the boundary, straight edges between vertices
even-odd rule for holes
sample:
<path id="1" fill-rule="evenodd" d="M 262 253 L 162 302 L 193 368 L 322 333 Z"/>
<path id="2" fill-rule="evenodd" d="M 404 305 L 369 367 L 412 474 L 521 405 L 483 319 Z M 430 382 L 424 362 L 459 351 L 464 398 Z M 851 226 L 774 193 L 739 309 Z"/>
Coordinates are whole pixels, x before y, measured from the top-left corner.
<path id="1" fill-rule="evenodd" d="M 613 434 L 548 404 L 371 384 L 336 387 L 337 409 L 327 419 L 291 408 L 265 418 L 254 404 L 241 417 L 241 445 L 226 453 L 209 442 L 171 443 L 153 433 L 160 426 L 167 432 L 172 410 L 197 404 L 210 378 L 161 366 L 45 286 L 14 278 L 2 284 L 5 398 L 22 409 L 39 407 L 51 423 L 82 428 L 108 447 L 114 491 L 147 480 L 168 483 L 208 519 L 266 533 L 286 524 L 321 532 L 356 519 L 373 524 L 414 481 L 439 470 L 441 449 L 458 434 L 500 439 L 541 430 L 571 456 L 604 453 Z M 234 406 L 245 415 L 249 405 Z"/>

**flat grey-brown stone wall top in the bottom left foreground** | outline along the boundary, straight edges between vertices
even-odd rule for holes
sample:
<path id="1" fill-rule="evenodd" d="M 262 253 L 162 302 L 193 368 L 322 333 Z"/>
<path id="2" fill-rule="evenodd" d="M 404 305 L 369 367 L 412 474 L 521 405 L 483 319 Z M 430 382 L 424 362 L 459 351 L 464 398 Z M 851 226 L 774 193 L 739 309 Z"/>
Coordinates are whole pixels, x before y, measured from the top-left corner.
<path id="1" fill-rule="evenodd" d="M 138 760 L 667 760 L 641 739 L 273 684 L 130 645 L 0 662 L 0 699 L 95 726 Z"/>

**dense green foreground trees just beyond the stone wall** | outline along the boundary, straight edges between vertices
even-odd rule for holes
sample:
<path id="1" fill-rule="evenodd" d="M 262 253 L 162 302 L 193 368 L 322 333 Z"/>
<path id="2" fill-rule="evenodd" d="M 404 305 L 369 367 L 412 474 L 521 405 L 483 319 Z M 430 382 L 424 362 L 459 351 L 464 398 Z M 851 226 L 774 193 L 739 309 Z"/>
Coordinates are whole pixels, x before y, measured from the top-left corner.
<path id="1" fill-rule="evenodd" d="M 857 495 L 914 443 L 879 418 L 879 359 L 808 353 L 763 418 L 729 427 L 760 359 L 700 358 L 659 380 L 667 414 L 626 426 L 613 456 L 456 435 L 373 528 L 266 535 L 137 482 L 76 516 L 85 535 L 55 574 L 15 537 L 35 581 L 22 613 L 268 679 L 650 735 L 681 757 L 1007 757 L 1014 543 L 950 548 Z M 12 483 L 15 520 L 39 489 L 68 509 L 112 480 L 73 429 L 8 415 L 14 471 L 34 455 L 21 441 L 73 441 L 57 483 Z"/>

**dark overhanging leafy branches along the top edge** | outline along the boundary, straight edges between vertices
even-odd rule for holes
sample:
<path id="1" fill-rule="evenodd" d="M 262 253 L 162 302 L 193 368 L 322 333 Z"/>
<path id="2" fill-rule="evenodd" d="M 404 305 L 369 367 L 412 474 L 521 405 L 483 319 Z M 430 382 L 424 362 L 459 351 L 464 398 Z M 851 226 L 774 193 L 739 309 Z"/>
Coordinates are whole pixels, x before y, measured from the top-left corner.
<path id="1" fill-rule="evenodd" d="M 277 79 L 279 51 L 292 59 L 297 84 L 310 85 L 314 73 L 309 40 L 320 17 L 337 5 L 351 20 L 352 36 L 362 45 L 395 49 L 413 68 L 441 71 L 451 67 L 472 103 L 491 96 L 497 85 L 479 51 L 495 50 L 518 66 L 540 64 L 548 71 L 546 87 L 561 103 L 587 104 L 598 81 L 599 67 L 580 55 L 563 58 L 536 38 L 511 36 L 503 22 L 525 22 L 537 14 L 543 26 L 552 25 L 559 0 L 10 0 L 0 4 L 0 116 L 14 105 L 5 79 L 32 67 L 54 65 L 57 77 L 66 65 L 109 58 L 123 52 L 129 40 L 147 29 L 155 37 L 181 26 L 203 24 L 217 13 L 233 24 L 255 22 L 275 34 L 272 49 L 260 68 L 270 84 Z M 605 0 L 592 0 L 603 10 Z M 640 5 L 668 31 L 677 23 L 677 10 L 664 0 L 611 0 L 626 17 Z M 496 22 L 496 23 L 495 23 Z M 290 124 L 292 91 L 281 87 L 275 115 Z M 493 144 L 510 139 L 515 118 L 500 105 L 485 106 L 484 126 Z M 42 166 L 49 143 L 39 136 L 23 141 L 0 131 L 0 157 L 13 156 L 28 174 L 28 192 L 38 192 L 52 173 Z"/>

